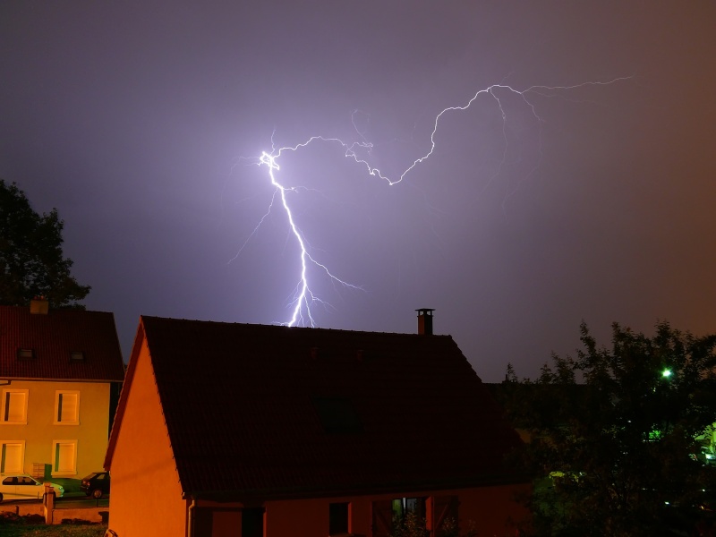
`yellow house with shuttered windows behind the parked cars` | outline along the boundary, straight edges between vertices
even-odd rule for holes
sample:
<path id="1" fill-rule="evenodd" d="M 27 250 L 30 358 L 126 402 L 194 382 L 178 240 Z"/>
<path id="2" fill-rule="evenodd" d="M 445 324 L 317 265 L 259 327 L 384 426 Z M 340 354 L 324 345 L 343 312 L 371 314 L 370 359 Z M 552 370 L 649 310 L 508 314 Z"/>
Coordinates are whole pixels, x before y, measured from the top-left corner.
<path id="1" fill-rule="evenodd" d="M 0 306 L 0 473 L 101 470 L 123 379 L 112 313 Z"/>

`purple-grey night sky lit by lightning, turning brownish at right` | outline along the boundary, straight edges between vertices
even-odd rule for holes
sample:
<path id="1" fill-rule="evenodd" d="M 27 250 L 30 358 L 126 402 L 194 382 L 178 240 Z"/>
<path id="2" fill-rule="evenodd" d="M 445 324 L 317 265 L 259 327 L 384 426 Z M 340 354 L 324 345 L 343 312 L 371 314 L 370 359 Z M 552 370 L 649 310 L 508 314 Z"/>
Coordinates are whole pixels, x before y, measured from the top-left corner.
<path id="1" fill-rule="evenodd" d="M 313 259 L 360 287 L 310 268 L 316 326 L 435 308 L 482 379 L 532 377 L 582 320 L 605 344 L 612 321 L 716 331 L 715 25 L 711 0 L 4 1 L 0 177 L 58 209 L 128 357 L 141 314 L 290 319 L 272 137 L 370 141 L 395 179 L 443 109 L 572 87 L 447 112 L 392 186 L 335 142 L 276 172 Z"/>

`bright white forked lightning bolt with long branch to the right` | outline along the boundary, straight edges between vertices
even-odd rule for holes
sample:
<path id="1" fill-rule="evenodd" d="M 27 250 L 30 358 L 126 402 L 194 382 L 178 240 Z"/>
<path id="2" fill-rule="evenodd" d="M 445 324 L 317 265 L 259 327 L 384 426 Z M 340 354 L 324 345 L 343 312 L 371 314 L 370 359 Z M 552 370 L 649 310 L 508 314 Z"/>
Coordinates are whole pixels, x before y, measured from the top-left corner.
<path id="1" fill-rule="evenodd" d="M 538 125 L 540 125 L 539 129 L 539 152 L 541 157 L 541 123 L 542 119 L 540 115 L 537 113 L 537 108 L 533 104 L 533 102 L 530 100 L 529 96 L 531 95 L 537 95 L 542 98 L 563 98 L 563 94 L 566 91 L 569 90 L 577 90 L 580 88 L 588 87 L 588 86 L 609 86 L 611 84 L 617 83 L 618 81 L 626 81 L 634 78 L 634 75 L 631 76 L 623 76 L 623 77 L 617 77 L 613 78 L 609 81 L 587 81 L 571 86 L 530 86 L 526 90 L 516 90 L 512 86 L 509 86 L 505 83 L 499 83 L 499 84 L 492 84 L 486 88 L 483 88 L 482 90 L 478 90 L 473 94 L 472 98 L 469 98 L 465 104 L 463 105 L 456 105 L 451 107 L 443 108 L 438 115 L 435 116 L 434 121 L 432 122 L 432 128 L 430 131 L 430 144 L 429 149 L 425 151 L 421 156 L 414 158 L 413 162 L 406 166 L 404 171 L 400 173 L 400 175 L 394 176 L 393 178 L 389 177 L 388 175 L 385 175 L 381 170 L 376 167 L 372 166 L 371 163 L 366 160 L 366 158 L 362 158 L 359 153 L 365 153 L 367 155 L 371 155 L 371 149 L 373 149 L 373 144 L 370 141 L 367 141 L 365 137 L 363 136 L 362 132 L 357 128 L 354 121 L 354 115 L 357 113 L 357 111 L 354 111 L 354 113 L 351 116 L 352 123 L 354 125 L 355 131 L 358 133 L 358 135 L 361 138 L 361 141 L 343 141 L 339 138 L 330 138 L 325 136 L 311 136 L 306 141 L 300 142 L 295 144 L 294 146 L 286 146 L 281 148 L 276 148 L 272 144 L 272 149 L 270 152 L 263 151 L 259 158 L 252 158 L 250 159 L 252 161 L 252 164 L 258 165 L 258 166 L 266 166 L 268 169 L 268 179 L 271 183 L 271 185 L 274 188 L 274 194 L 271 198 L 271 202 L 268 206 L 267 212 L 264 214 L 263 217 L 261 217 L 260 222 L 257 226 L 254 227 L 253 231 L 249 235 L 249 237 L 246 239 L 246 241 L 243 243 L 241 249 L 238 251 L 236 256 L 234 256 L 234 259 L 238 257 L 241 254 L 241 251 L 243 251 L 243 248 L 245 247 L 246 243 L 248 243 L 251 240 L 251 237 L 253 237 L 259 230 L 261 224 L 264 222 L 266 217 L 268 217 L 268 214 L 270 214 L 271 210 L 274 207 L 274 204 L 278 199 L 280 200 L 281 208 L 283 209 L 286 219 L 288 220 L 288 226 L 290 234 L 293 235 L 294 240 L 296 244 L 298 245 L 299 251 L 300 251 L 300 265 L 301 270 L 298 277 L 298 283 L 294 287 L 294 293 L 293 297 L 290 301 L 290 307 L 292 308 L 290 319 L 286 322 L 281 322 L 279 324 L 283 324 L 286 326 L 294 326 L 297 324 L 310 324 L 311 327 L 315 326 L 315 320 L 313 318 L 313 315 L 311 313 L 311 306 L 313 306 L 316 303 L 320 303 L 323 305 L 328 305 L 323 300 L 320 299 L 320 297 L 316 294 L 314 294 L 311 291 L 311 286 L 309 286 L 309 277 L 308 277 L 308 268 L 310 265 L 313 265 L 317 268 L 320 268 L 321 271 L 323 271 L 328 278 L 334 282 L 337 285 L 344 286 L 344 287 L 350 287 L 354 289 L 362 289 L 360 286 L 354 286 L 353 284 L 350 284 L 348 282 L 345 282 L 341 278 L 337 277 L 331 271 L 322 263 L 320 263 L 319 260 L 316 260 L 311 256 L 311 253 L 309 251 L 309 248 L 307 246 L 306 239 L 303 237 L 303 233 L 301 232 L 301 229 L 299 226 L 296 225 L 295 219 L 294 219 L 294 213 L 291 210 L 291 206 L 289 205 L 288 199 L 286 198 L 287 192 L 296 192 L 296 187 L 286 187 L 282 183 L 279 183 L 277 180 L 277 172 L 280 171 L 280 166 L 278 165 L 278 159 L 281 158 L 281 156 L 286 152 L 296 152 L 303 148 L 306 148 L 307 146 L 315 143 L 326 143 L 326 144 L 333 144 L 337 146 L 337 148 L 340 148 L 345 158 L 350 158 L 355 162 L 355 164 L 359 166 L 363 166 L 364 171 L 366 174 L 378 177 L 379 179 L 385 181 L 388 183 L 389 186 L 396 185 L 398 183 L 403 182 L 405 177 L 409 175 L 413 170 L 420 166 L 423 162 L 425 162 L 427 159 L 429 159 L 433 152 L 435 151 L 437 142 L 436 142 L 436 136 L 438 134 L 439 124 L 442 118 L 445 115 L 449 115 L 451 113 L 459 113 L 459 112 L 465 112 L 468 108 L 473 106 L 473 103 L 480 98 L 481 96 L 489 96 L 495 100 L 497 103 L 497 107 L 499 109 L 499 113 L 502 115 L 502 136 L 505 141 L 505 151 L 503 153 L 502 161 L 499 164 L 499 168 L 497 172 L 490 178 L 490 181 L 497 177 L 502 169 L 502 166 L 505 163 L 505 159 L 507 157 L 507 111 L 505 107 L 503 106 L 503 99 L 499 97 L 500 93 L 504 93 L 505 95 L 511 94 L 513 96 L 516 96 L 517 98 L 520 98 L 524 101 L 525 105 L 530 110 L 531 114 L 533 115 L 534 120 L 537 122 Z M 273 140 L 273 136 L 272 136 Z M 524 180 L 529 179 L 531 175 L 539 168 L 540 161 L 533 166 L 533 169 L 524 177 Z"/>

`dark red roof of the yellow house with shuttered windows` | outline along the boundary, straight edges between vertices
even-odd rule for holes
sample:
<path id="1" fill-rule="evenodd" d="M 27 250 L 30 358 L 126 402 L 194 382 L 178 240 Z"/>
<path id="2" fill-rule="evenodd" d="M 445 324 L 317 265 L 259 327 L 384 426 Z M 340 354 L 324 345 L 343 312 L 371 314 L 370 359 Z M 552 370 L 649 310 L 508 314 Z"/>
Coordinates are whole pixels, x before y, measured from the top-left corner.
<path id="1" fill-rule="evenodd" d="M 18 350 L 31 357 L 18 358 Z M 72 352 L 76 359 L 71 359 Z M 104 311 L 30 313 L 0 306 L 0 379 L 124 380 L 115 317 Z"/>

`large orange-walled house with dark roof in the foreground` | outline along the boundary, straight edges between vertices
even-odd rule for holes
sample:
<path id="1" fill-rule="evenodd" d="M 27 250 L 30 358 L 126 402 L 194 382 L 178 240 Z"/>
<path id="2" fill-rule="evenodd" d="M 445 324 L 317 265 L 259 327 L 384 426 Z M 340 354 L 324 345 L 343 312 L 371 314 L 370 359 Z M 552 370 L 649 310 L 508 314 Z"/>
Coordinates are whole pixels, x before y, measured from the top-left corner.
<path id="1" fill-rule="evenodd" d="M 430 332 L 142 317 L 107 448 L 109 529 L 384 537 L 414 510 L 432 535 L 449 518 L 514 535 L 531 485 L 504 456 L 520 440 Z"/>

